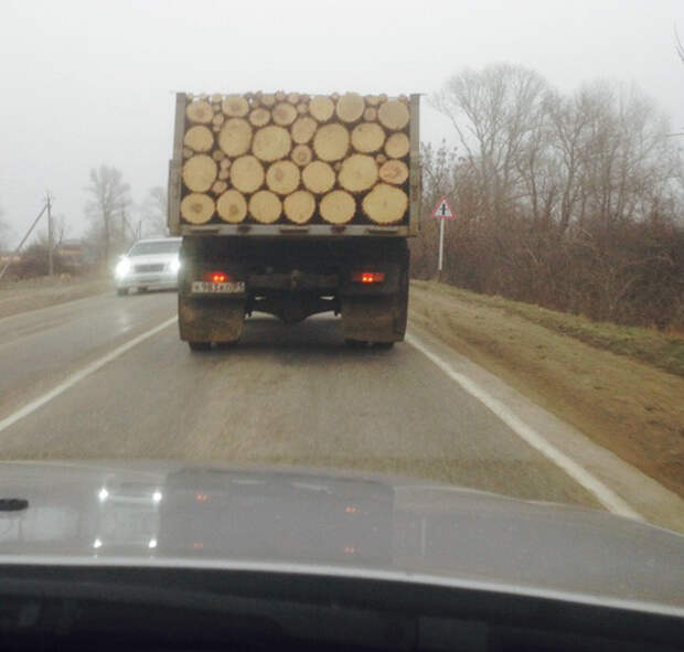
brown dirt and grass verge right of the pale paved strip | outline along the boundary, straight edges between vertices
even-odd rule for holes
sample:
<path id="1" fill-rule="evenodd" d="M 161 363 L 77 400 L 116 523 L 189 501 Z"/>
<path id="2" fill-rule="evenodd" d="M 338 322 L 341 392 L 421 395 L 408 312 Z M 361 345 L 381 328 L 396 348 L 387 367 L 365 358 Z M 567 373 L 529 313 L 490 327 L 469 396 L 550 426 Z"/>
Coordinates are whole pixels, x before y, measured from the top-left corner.
<path id="1" fill-rule="evenodd" d="M 409 310 L 415 323 L 684 496 L 684 340 L 428 281 L 412 284 Z"/>

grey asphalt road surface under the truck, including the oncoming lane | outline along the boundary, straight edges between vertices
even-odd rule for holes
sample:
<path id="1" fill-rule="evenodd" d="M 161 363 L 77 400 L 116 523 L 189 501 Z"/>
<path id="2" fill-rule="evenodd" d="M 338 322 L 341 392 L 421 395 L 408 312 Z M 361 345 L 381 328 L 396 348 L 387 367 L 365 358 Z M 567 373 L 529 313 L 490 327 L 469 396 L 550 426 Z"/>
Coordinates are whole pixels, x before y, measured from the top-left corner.
<path id="1" fill-rule="evenodd" d="M 0 457 L 343 467 L 598 505 L 413 344 L 257 316 L 237 348 L 191 353 L 174 314 L 172 292 L 107 292 L 0 320 Z"/>

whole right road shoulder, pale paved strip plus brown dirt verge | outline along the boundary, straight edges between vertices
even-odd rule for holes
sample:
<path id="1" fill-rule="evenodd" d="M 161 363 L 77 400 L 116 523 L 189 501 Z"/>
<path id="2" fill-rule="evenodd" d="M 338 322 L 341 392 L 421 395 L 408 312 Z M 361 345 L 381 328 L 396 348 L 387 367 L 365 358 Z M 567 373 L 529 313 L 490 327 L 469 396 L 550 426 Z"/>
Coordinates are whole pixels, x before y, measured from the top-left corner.
<path id="1" fill-rule="evenodd" d="M 684 530 L 683 378 L 429 285 L 412 286 L 412 332 L 649 521 Z"/>

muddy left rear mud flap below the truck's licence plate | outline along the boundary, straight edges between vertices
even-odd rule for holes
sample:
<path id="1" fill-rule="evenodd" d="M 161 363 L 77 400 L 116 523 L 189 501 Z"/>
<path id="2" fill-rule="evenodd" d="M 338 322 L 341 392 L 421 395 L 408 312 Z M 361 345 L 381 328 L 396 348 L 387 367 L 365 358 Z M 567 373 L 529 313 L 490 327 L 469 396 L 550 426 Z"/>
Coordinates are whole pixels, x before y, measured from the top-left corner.
<path id="1" fill-rule="evenodd" d="M 245 324 L 245 301 L 189 299 L 179 293 L 178 323 L 186 342 L 237 342 Z"/>

